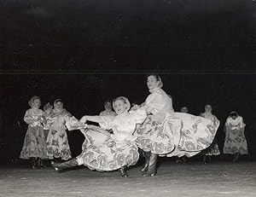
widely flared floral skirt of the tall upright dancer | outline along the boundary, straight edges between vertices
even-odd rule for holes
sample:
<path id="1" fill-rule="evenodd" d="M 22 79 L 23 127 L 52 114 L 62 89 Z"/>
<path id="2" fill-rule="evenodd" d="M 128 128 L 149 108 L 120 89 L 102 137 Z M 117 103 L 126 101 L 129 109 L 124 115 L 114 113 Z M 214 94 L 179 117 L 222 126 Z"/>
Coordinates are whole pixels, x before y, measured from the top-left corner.
<path id="1" fill-rule="evenodd" d="M 212 143 L 218 125 L 212 120 L 189 113 L 175 113 L 175 117 L 158 123 L 148 116 L 135 131 L 137 146 L 160 156 L 186 155 L 191 157 Z"/>

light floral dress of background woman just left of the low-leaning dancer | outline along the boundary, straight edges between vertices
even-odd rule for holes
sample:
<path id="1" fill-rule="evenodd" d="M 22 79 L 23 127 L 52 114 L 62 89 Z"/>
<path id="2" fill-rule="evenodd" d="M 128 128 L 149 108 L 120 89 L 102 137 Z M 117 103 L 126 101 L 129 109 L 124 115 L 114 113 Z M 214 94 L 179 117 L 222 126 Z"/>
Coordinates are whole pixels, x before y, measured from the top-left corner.
<path id="1" fill-rule="evenodd" d="M 62 109 L 61 112 L 53 111 L 48 118 L 48 121 L 51 122 L 46 141 L 49 159 L 61 158 L 67 160 L 71 158 L 65 125 L 65 117 L 67 116 L 71 116 L 71 114 L 66 109 Z"/>

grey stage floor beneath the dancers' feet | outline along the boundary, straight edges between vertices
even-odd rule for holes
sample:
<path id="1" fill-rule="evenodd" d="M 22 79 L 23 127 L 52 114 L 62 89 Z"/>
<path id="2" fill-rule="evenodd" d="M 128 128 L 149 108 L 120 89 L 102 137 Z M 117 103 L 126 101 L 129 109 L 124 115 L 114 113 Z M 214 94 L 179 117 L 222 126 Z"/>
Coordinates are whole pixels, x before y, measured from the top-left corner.
<path id="1" fill-rule="evenodd" d="M 2 165 L 0 196 L 256 196 L 256 162 L 179 165 L 166 161 L 156 177 L 143 177 L 140 167 L 132 167 L 124 178 L 117 171 L 85 167 L 58 173 L 51 168 Z"/>

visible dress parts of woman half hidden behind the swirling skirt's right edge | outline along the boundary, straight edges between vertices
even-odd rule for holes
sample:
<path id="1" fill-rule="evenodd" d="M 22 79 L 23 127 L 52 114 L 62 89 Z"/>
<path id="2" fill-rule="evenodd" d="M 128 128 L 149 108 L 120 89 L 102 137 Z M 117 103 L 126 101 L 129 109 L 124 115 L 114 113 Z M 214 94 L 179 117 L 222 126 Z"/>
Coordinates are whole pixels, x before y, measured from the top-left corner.
<path id="1" fill-rule="evenodd" d="M 212 120 L 213 125 L 219 125 L 219 120 L 212 113 L 201 113 L 200 115 L 201 115 L 201 117 Z M 205 149 L 202 152 L 202 154 L 205 154 L 208 156 L 220 154 L 219 149 L 218 149 L 218 143 L 212 142 L 211 146 L 209 148 Z"/>

